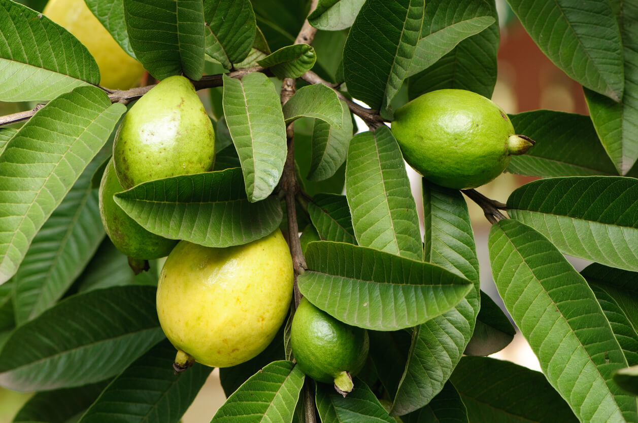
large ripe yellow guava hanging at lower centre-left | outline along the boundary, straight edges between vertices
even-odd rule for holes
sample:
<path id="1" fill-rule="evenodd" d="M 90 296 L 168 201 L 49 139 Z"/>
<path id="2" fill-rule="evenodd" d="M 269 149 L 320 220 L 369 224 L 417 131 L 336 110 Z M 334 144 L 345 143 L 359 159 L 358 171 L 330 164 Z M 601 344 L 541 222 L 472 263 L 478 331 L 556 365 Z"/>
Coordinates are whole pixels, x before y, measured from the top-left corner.
<path id="1" fill-rule="evenodd" d="M 288 315 L 292 285 L 279 229 L 235 247 L 180 241 L 159 275 L 159 324 L 179 352 L 207 366 L 235 366 L 271 343 Z"/>

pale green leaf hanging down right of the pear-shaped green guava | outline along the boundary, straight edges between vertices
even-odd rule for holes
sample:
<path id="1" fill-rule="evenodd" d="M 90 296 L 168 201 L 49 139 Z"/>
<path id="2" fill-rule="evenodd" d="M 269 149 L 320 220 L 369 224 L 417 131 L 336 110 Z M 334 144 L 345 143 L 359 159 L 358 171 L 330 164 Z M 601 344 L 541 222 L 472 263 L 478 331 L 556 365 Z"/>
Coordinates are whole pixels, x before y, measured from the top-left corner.
<path id="1" fill-rule="evenodd" d="M 241 160 L 251 202 L 271 195 L 286 161 L 286 124 L 271 80 L 255 72 L 223 77 L 224 116 Z"/>

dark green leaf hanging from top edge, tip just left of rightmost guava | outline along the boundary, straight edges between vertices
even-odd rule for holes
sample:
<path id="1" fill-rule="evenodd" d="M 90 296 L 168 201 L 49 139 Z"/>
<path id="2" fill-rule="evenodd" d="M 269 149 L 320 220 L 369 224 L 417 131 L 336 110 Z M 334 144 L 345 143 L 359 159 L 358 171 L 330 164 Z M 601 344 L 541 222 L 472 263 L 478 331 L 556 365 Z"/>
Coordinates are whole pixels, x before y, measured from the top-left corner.
<path id="1" fill-rule="evenodd" d="M 368 0 L 343 49 L 348 92 L 373 109 L 389 106 L 410 68 L 423 25 L 423 0 Z"/>

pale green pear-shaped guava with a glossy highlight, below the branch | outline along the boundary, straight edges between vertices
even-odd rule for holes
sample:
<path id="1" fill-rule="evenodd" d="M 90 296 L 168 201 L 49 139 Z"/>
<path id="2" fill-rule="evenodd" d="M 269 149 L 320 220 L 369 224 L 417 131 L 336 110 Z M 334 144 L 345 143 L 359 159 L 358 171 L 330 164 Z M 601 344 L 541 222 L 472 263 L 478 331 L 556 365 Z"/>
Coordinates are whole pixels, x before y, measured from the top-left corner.
<path id="1" fill-rule="evenodd" d="M 212 169 L 215 134 L 195 87 L 169 76 L 124 115 L 115 136 L 115 171 L 124 189 Z"/>

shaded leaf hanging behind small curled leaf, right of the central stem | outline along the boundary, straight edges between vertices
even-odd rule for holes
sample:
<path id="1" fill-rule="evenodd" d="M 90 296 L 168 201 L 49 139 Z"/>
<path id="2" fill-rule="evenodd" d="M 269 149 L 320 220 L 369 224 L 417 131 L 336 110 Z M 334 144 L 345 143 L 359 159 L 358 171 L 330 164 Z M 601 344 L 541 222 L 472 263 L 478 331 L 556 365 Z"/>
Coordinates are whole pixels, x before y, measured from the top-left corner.
<path id="1" fill-rule="evenodd" d="M 345 101 L 341 101 L 340 104 L 341 127 L 334 127 L 325 120 L 315 119 L 309 180 L 323 181 L 330 178 L 346 161 L 353 125 L 348 105 Z"/>

